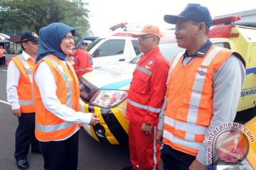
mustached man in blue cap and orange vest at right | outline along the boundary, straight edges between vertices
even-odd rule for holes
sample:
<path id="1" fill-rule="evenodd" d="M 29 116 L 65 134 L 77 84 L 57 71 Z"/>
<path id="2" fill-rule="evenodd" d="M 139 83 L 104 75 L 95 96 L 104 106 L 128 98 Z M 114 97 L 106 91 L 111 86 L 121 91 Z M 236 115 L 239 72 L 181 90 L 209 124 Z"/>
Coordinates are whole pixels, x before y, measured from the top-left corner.
<path id="1" fill-rule="evenodd" d="M 171 62 L 165 109 L 159 115 L 156 140 L 164 142 L 164 169 L 207 169 L 209 133 L 234 120 L 245 61 L 208 40 L 213 20 L 200 4 L 188 4 L 164 21 L 176 24 L 178 46 L 186 49 Z"/>

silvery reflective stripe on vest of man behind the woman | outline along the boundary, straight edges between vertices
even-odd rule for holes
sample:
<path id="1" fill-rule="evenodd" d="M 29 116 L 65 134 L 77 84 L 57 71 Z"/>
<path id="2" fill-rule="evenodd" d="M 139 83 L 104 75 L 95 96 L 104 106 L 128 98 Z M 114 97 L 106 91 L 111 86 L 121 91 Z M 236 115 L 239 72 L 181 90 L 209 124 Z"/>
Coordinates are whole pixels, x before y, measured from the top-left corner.
<path id="1" fill-rule="evenodd" d="M 21 60 L 24 68 L 26 69 L 26 74 L 28 75 L 29 81 L 31 81 L 31 101 L 21 101 L 18 100 L 18 103 L 20 105 L 33 105 L 34 101 L 33 101 L 33 74 L 32 71 L 30 69 L 30 66 L 28 64 L 28 62 L 24 59 L 23 55 L 18 55 L 18 58 Z"/>

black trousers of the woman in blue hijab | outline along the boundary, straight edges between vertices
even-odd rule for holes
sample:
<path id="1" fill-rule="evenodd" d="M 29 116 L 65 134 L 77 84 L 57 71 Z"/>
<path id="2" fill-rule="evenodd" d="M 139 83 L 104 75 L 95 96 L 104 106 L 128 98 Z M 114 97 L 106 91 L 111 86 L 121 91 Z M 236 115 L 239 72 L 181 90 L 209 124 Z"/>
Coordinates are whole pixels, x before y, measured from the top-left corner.
<path id="1" fill-rule="evenodd" d="M 62 141 L 39 142 L 46 170 L 78 168 L 78 132 Z"/>

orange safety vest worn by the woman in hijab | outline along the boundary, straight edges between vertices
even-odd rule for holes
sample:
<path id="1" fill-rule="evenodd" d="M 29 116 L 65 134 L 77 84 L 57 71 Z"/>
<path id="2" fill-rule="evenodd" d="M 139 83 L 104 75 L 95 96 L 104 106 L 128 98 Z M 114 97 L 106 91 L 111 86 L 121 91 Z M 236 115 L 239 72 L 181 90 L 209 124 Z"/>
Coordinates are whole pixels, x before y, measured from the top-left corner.
<path id="1" fill-rule="evenodd" d="M 58 57 L 48 55 L 36 64 L 35 74 L 38 65 L 42 61 L 46 62 L 50 67 L 50 70 L 53 72 L 57 85 L 56 95 L 58 96 L 60 103 L 78 111 L 80 95 L 79 84 L 78 78 L 76 77 L 75 71 L 70 62 L 66 62 L 68 64 L 68 67 L 66 67 Z M 73 135 L 75 130 L 78 128 L 78 124 L 67 122 L 58 118 L 53 113 L 50 113 L 43 104 L 40 91 L 35 82 L 33 83 L 33 91 L 36 103 L 36 138 L 40 141 L 51 141 L 61 140 Z"/>

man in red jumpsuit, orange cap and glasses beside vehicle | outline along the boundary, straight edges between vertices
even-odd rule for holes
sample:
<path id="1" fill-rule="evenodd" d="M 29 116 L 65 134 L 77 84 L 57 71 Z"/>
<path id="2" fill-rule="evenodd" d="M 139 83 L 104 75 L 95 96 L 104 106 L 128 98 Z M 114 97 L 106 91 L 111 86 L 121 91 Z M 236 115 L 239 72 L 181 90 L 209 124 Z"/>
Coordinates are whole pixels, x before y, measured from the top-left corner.
<path id="1" fill-rule="evenodd" d="M 133 34 L 144 56 L 134 70 L 129 87 L 126 118 L 129 120 L 129 153 L 132 167 L 159 169 L 160 145 L 155 140 L 156 125 L 164 102 L 169 62 L 159 50 L 161 32 L 157 26 L 144 26 Z"/>

